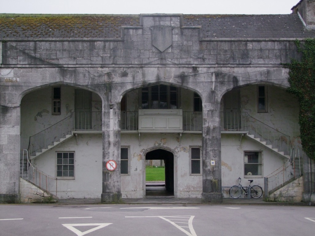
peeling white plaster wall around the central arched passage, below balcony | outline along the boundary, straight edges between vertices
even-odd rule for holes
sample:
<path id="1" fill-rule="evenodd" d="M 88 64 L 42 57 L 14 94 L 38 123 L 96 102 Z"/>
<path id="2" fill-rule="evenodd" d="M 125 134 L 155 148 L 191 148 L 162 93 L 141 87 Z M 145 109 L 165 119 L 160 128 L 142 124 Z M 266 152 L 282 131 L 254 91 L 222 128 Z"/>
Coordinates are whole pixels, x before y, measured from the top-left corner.
<path id="1" fill-rule="evenodd" d="M 121 176 L 123 198 L 145 196 L 145 153 L 155 148 L 171 151 L 174 155 L 174 195 L 179 198 L 201 197 L 202 174 L 189 175 L 189 145 L 201 145 L 201 135 L 151 133 L 122 134 L 121 145 L 130 146 L 129 175 Z"/>

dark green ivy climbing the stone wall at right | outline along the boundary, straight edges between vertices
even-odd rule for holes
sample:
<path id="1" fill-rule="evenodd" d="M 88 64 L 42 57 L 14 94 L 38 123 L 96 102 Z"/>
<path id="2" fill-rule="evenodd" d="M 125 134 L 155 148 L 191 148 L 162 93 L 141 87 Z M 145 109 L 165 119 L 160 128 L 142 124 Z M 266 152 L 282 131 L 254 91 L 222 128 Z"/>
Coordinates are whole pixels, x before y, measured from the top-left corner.
<path id="1" fill-rule="evenodd" d="M 315 160 L 315 39 L 295 41 L 301 61 L 291 59 L 288 91 L 300 102 L 299 124 L 303 150 Z"/>

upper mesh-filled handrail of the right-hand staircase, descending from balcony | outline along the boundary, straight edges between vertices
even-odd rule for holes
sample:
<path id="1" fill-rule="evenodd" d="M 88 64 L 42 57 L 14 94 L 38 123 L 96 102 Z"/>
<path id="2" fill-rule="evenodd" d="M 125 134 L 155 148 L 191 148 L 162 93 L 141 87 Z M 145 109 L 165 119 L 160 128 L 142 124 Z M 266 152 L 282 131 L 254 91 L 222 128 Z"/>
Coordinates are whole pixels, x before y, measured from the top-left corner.
<path id="1" fill-rule="evenodd" d="M 255 119 L 247 112 L 241 112 L 241 114 L 242 126 L 245 124 L 246 131 L 248 131 L 249 134 L 254 135 L 255 138 L 260 138 L 261 141 L 265 141 L 267 145 L 272 145 L 273 148 L 277 148 L 278 152 L 284 152 L 284 155 L 290 154 L 292 144 L 289 135 Z"/>

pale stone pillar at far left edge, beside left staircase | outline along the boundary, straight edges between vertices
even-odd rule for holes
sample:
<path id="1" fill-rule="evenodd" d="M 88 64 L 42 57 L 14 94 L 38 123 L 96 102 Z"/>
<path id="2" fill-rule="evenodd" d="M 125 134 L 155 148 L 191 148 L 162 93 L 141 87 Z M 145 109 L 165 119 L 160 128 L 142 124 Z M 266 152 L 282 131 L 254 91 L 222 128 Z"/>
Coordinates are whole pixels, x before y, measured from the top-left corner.
<path id="1" fill-rule="evenodd" d="M 0 203 L 19 203 L 20 107 L 7 106 L 0 107 Z"/>

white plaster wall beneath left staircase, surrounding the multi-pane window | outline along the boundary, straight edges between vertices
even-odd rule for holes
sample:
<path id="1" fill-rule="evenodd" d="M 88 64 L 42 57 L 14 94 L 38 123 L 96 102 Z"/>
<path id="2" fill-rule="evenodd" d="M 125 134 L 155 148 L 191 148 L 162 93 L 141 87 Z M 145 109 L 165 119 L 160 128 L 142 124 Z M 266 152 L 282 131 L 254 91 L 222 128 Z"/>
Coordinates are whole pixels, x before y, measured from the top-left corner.
<path id="1" fill-rule="evenodd" d="M 78 134 L 32 160 L 35 166 L 56 177 L 56 152 L 75 152 L 75 179 L 58 180 L 57 196 L 100 198 L 102 193 L 102 134 Z M 55 187 L 54 187 L 55 188 Z M 55 189 L 52 189 L 54 193 Z"/>

